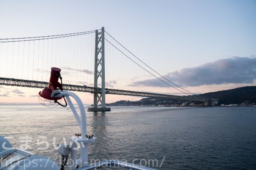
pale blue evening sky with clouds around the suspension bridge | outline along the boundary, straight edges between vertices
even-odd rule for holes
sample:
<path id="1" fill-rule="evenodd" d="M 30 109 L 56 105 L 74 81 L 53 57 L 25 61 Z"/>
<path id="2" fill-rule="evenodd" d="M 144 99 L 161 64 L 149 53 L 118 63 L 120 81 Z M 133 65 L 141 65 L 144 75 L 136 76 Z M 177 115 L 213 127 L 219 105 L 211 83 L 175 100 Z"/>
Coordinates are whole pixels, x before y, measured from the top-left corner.
<path id="1" fill-rule="evenodd" d="M 0 38 L 104 26 L 160 74 L 190 92 L 205 93 L 256 85 L 255 9 L 255 0 L 0 0 Z M 151 86 L 152 81 L 136 83 Z M 0 86 L 0 102 L 38 102 L 38 91 Z M 92 103 L 92 94 L 77 94 Z M 106 96 L 107 103 L 139 99 Z"/>

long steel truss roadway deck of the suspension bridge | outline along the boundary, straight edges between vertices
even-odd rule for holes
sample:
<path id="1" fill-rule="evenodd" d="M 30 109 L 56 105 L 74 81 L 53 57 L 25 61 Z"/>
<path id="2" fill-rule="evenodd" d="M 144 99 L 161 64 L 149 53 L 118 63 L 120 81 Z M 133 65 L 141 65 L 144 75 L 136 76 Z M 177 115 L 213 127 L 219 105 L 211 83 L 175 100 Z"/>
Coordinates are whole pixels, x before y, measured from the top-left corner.
<path id="1" fill-rule="evenodd" d="M 30 87 L 30 88 L 45 88 L 46 86 L 48 86 L 48 82 L 0 77 L 0 85 Z M 90 92 L 90 93 L 96 92 L 98 94 L 101 94 L 101 88 L 94 88 L 94 87 L 90 87 L 90 86 L 62 84 L 62 88 L 63 88 L 63 90 L 69 90 L 69 91 Z M 136 91 L 117 90 L 117 89 L 110 89 L 110 88 L 106 88 L 106 94 L 140 96 L 140 97 L 171 98 L 171 99 L 175 99 L 175 100 L 199 101 L 199 102 L 208 102 L 208 100 L 209 100 L 207 98 L 199 98 L 196 96 L 175 96 L 175 95 L 170 95 L 170 94 L 136 92 Z"/>

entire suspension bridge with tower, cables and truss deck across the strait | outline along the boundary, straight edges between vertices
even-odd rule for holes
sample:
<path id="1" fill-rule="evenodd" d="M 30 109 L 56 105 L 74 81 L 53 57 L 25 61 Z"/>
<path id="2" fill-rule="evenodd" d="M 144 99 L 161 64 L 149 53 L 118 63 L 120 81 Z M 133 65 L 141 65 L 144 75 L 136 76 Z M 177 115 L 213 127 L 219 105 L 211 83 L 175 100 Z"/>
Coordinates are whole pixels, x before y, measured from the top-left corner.
<path id="1" fill-rule="evenodd" d="M 44 88 L 50 68 L 62 69 L 63 89 L 94 94 L 89 111 L 108 111 L 106 94 L 200 101 L 203 98 L 148 66 L 107 31 L 0 39 L 0 85 Z M 99 106 L 100 104 L 100 106 Z"/>

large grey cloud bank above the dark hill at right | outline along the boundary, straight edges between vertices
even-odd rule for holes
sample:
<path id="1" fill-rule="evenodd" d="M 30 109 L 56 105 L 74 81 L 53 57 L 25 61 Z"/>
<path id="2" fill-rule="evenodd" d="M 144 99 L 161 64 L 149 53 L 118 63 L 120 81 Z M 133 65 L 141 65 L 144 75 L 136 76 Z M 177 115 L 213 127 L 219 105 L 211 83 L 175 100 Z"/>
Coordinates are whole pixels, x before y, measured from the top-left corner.
<path id="1" fill-rule="evenodd" d="M 164 77 L 180 86 L 253 83 L 256 79 L 256 57 L 220 59 L 212 63 L 170 72 Z M 166 84 L 153 78 L 133 82 L 130 86 L 166 87 Z"/>

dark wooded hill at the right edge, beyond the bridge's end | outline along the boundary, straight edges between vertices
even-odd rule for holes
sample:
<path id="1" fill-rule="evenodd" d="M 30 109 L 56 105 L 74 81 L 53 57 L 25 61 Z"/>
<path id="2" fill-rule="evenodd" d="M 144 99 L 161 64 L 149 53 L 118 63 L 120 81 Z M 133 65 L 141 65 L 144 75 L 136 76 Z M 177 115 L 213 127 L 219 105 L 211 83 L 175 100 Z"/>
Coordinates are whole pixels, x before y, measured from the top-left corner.
<path id="1" fill-rule="evenodd" d="M 200 94 L 205 98 L 219 99 L 219 104 L 240 104 L 256 102 L 256 86 L 245 86 L 230 90 Z"/>

